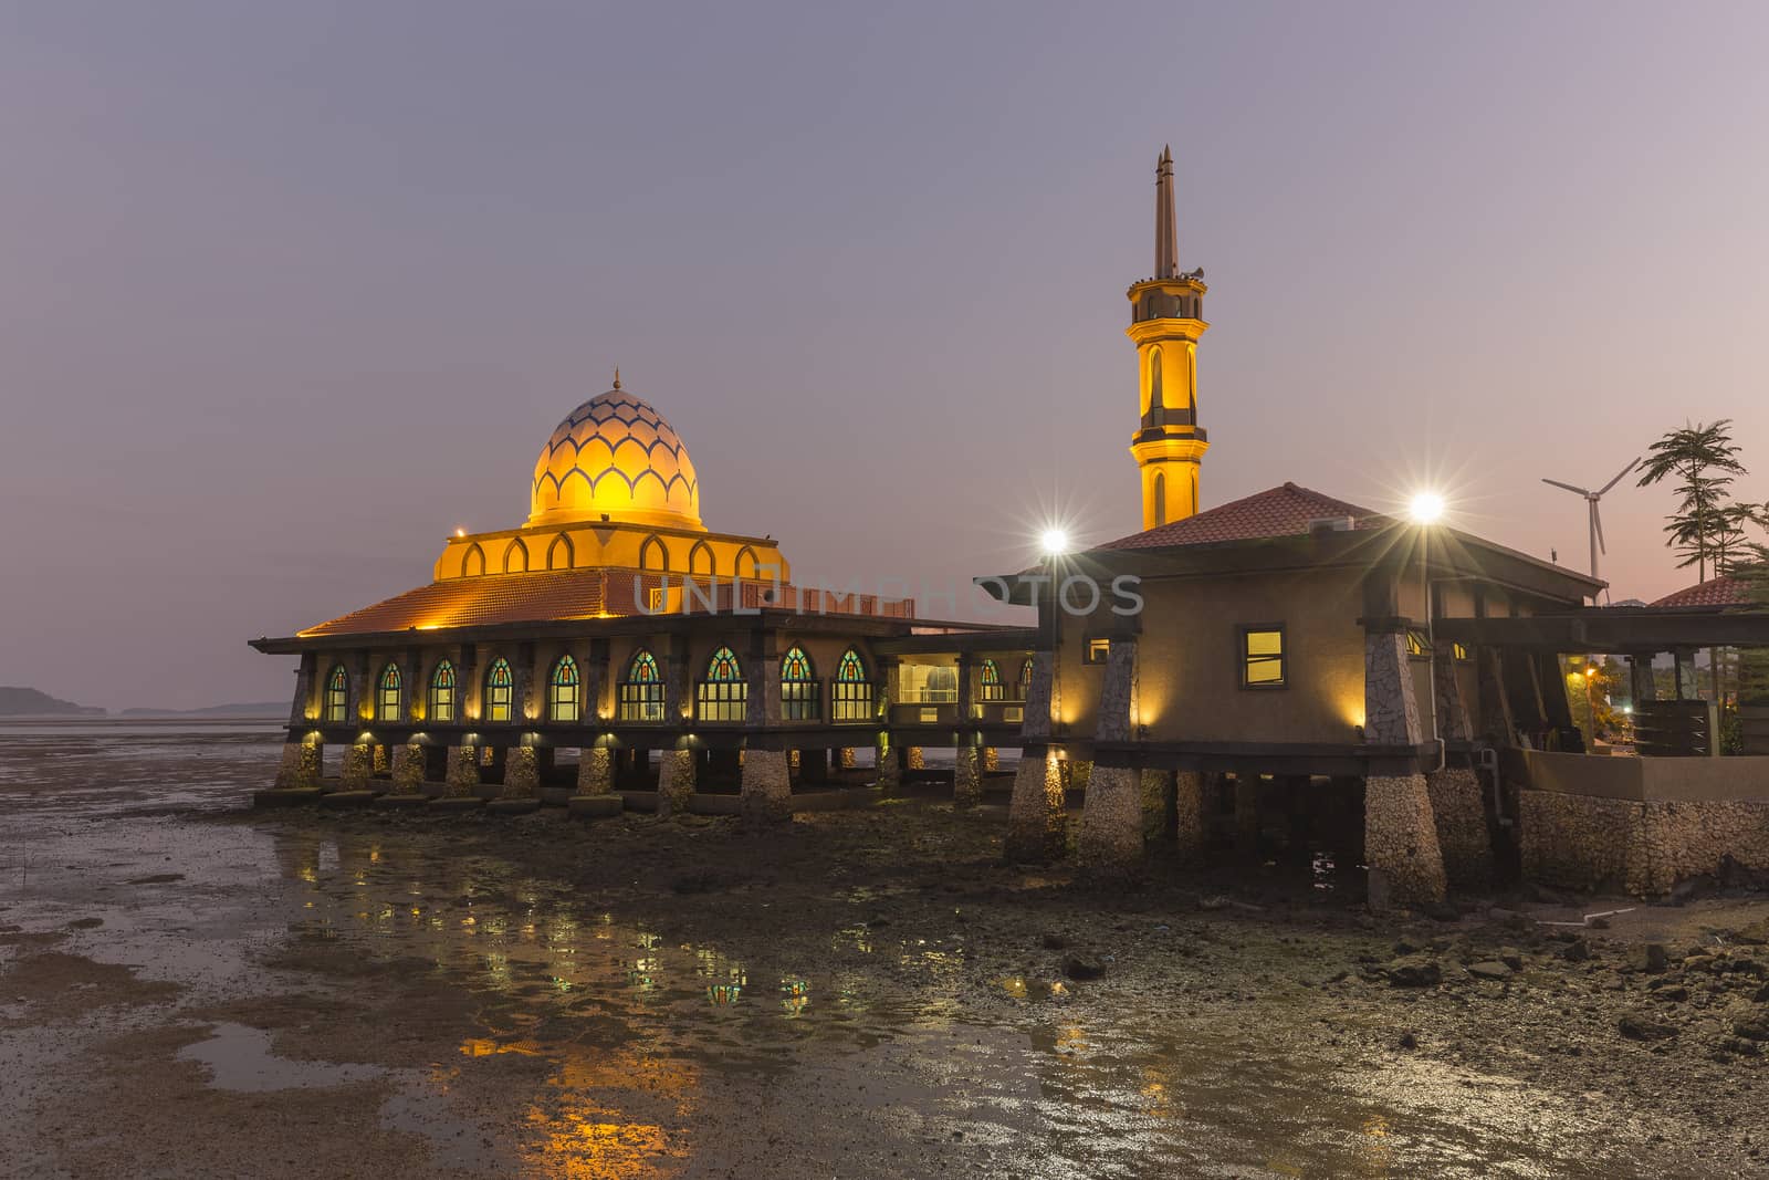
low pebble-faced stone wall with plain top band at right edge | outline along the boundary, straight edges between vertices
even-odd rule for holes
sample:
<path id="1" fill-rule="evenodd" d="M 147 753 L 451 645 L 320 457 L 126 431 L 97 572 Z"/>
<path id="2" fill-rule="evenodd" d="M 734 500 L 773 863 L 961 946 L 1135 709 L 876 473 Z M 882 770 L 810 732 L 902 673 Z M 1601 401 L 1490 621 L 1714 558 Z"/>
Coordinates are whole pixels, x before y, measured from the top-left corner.
<path id="1" fill-rule="evenodd" d="M 1574 890 L 1663 897 L 1732 856 L 1769 869 L 1769 800 L 1608 800 L 1558 791 L 1520 794 L 1523 876 Z"/>

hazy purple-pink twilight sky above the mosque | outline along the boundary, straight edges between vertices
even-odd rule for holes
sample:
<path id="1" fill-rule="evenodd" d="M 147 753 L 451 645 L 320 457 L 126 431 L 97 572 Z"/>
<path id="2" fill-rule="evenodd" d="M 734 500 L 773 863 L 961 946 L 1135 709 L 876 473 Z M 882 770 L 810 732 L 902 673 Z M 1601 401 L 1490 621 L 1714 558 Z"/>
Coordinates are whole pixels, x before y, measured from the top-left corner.
<path id="1" fill-rule="evenodd" d="M 0 5 L 0 683 L 287 697 L 244 646 L 509 527 L 609 386 L 800 580 L 1137 527 L 1173 143 L 1205 504 L 1284 479 L 1585 564 L 1684 418 L 1769 499 L 1769 7 Z M 1615 598 L 1693 580 L 1606 501 Z M 938 605 L 936 614 L 945 614 Z"/>

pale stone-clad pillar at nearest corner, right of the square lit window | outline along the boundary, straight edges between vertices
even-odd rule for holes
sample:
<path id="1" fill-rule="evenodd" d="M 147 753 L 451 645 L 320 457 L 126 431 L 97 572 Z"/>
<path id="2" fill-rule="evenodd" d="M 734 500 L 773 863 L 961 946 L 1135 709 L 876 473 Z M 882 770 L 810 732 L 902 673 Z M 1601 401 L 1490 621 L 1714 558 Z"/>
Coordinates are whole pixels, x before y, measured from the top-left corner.
<path id="1" fill-rule="evenodd" d="M 1364 635 L 1364 715 L 1369 741 L 1419 745 L 1419 704 L 1403 628 Z M 1371 909 L 1444 900 L 1444 853 L 1424 775 L 1364 780 L 1364 863 Z"/>

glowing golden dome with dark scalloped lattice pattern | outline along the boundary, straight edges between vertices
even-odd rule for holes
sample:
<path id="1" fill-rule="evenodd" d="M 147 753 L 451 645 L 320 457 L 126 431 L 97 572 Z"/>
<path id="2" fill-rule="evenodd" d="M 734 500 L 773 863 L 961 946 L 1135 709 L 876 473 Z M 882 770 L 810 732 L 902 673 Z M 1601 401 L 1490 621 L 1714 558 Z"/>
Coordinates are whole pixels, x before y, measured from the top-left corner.
<path id="1" fill-rule="evenodd" d="M 681 435 L 649 403 L 614 389 L 559 423 L 534 464 L 531 525 L 584 520 L 706 529 Z"/>

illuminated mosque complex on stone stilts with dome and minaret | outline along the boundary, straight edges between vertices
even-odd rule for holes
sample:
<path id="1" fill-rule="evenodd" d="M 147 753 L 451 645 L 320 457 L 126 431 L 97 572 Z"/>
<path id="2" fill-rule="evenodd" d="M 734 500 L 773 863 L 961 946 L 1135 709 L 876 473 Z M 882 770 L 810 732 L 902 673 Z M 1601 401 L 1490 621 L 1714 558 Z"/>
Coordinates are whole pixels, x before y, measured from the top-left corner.
<path id="1" fill-rule="evenodd" d="M 1007 780 L 1008 747 L 1007 851 L 1026 860 L 1275 840 L 1367 865 L 1376 902 L 1442 899 L 1509 858 L 1647 893 L 1723 854 L 1769 867 L 1769 800 L 1737 775 L 1631 759 L 1640 784 L 1617 796 L 1601 764 L 1620 759 L 1583 754 L 1560 669 L 1569 651 L 1650 665 L 1769 642 L 1769 619 L 1585 607 L 1603 582 L 1295 483 L 1201 508 L 1208 288 L 1178 265 L 1168 150 L 1155 269 L 1127 294 L 1141 529 L 978 579 L 1035 624 L 794 586 L 771 536 L 702 524 L 683 437 L 616 373 L 547 439 L 520 527 L 460 533 L 428 584 L 253 640 L 299 656 L 262 801 L 784 817 L 844 778 L 892 793 L 927 773 L 923 748 L 950 748 L 953 798 L 973 805 Z M 1640 702 L 1668 731 L 1691 706 Z M 1682 793 L 1681 821 L 1652 810 L 1654 777 Z M 1617 851 L 1647 830 L 1672 851 Z"/>

